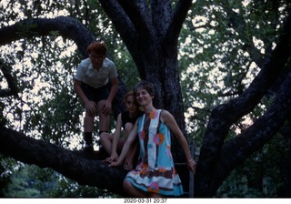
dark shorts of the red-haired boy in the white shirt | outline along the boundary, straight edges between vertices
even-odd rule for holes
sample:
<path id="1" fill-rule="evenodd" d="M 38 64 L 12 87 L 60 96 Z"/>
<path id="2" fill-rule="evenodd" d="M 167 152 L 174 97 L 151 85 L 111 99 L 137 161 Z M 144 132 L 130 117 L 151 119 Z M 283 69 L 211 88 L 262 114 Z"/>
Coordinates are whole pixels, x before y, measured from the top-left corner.
<path id="1" fill-rule="evenodd" d="M 100 100 L 107 99 L 107 97 L 109 96 L 109 89 L 107 86 L 95 88 L 82 82 L 81 88 L 85 94 L 85 97 L 87 97 L 89 100 L 94 101 L 96 104 Z"/>

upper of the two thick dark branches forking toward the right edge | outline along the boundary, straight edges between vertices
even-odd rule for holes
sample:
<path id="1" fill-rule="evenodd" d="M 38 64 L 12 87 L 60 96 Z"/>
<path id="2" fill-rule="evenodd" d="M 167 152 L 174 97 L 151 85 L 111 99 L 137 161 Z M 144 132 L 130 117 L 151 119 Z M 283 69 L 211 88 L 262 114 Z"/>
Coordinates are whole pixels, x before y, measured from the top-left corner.
<path id="1" fill-rule="evenodd" d="M 271 56 L 266 60 L 266 64 L 262 70 L 255 77 L 253 82 L 246 91 L 239 97 L 229 101 L 226 105 L 234 107 L 234 111 L 229 115 L 229 121 L 236 122 L 238 118 L 245 116 L 251 111 L 256 104 L 266 95 L 268 89 L 276 81 L 276 78 L 280 76 L 280 73 L 284 70 L 288 59 L 291 56 L 291 15 L 286 19 L 285 29 L 279 38 L 276 48 Z M 235 106 L 234 106 L 235 105 Z M 217 108 L 217 110 L 220 107 Z M 221 110 L 222 110 L 221 109 Z M 226 110 L 226 109 L 225 109 Z M 234 114 L 235 113 L 235 114 Z"/>

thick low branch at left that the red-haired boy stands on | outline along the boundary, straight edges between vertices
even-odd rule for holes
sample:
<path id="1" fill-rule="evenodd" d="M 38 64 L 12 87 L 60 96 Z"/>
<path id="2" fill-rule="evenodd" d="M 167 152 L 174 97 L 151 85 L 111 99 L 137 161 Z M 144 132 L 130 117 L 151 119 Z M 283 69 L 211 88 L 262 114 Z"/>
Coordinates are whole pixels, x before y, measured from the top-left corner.
<path id="1" fill-rule="evenodd" d="M 52 168 L 79 184 L 108 189 L 123 194 L 122 183 L 126 171 L 123 168 L 109 168 L 97 160 L 102 156 L 88 158 L 80 152 L 73 152 L 53 144 L 25 137 L 22 133 L 2 127 L 0 124 L 0 153 L 27 164 L 41 168 Z"/>

